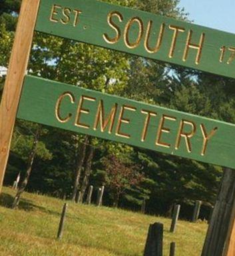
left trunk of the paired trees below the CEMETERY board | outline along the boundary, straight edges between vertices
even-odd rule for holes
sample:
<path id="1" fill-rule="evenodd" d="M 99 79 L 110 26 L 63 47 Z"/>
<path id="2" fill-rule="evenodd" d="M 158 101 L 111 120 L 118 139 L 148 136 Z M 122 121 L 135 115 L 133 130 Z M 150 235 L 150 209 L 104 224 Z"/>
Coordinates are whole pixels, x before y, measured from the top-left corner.
<path id="1" fill-rule="evenodd" d="M 75 177 L 74 177 L 74 183 L 73 183 L 73 194 L 71 196 L 71 200 L 75 201 L 77 197 L 77 193 L 79 190 L 79 181 L 81 177 L 81 169 L 83 167 L 84 159 L 85 159 L 85 153 L 87 149 L 87 142 L 88 142 L 88 136 L 85 136 L 84 142 L 81 144 L 81 147 L 79 149 L 79 155 L 77 159 L 77 166 L 75 170 Z"/>

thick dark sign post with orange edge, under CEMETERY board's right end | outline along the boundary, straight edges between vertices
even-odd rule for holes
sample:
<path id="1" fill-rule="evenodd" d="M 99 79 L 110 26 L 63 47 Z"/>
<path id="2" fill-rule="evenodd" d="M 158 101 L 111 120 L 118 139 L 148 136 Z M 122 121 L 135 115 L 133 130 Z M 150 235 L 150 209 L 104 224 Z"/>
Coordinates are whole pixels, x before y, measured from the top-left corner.
<path id="1" fill-rule="evenodd" d="M 235 171 L 225 169 L 202 256 L 235 255 Z"/>

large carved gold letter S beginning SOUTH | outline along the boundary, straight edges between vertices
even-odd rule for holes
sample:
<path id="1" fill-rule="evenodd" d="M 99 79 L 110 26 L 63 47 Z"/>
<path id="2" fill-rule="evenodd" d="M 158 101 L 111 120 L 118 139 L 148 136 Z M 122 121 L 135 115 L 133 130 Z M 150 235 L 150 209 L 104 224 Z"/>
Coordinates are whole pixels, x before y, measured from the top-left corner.
<path id="1" fill-rule="evenodd" d="M 112 11 L 111 13 L 109 13 L 107 20 L 108 20 L 108 24 L 115 30 L 116 32 L 116 37 L 111 38 L 109 37 L 109 35 L 107 35 L 106 33 L 103 35 L 103 38 L 105 39 L 105 41 L 107 43 L 117 43 L 117 41 L 119 41 L 120 36 L 121 36 L 121 32 L 120 32 L 120 28 L 115 24 L 115 22 L 113 21 L 113 17 L 118 17 L 118 20 L 120 22 L 123 21 L 123 17 L 122 14 L 119 13 L 118 11 Z"/>

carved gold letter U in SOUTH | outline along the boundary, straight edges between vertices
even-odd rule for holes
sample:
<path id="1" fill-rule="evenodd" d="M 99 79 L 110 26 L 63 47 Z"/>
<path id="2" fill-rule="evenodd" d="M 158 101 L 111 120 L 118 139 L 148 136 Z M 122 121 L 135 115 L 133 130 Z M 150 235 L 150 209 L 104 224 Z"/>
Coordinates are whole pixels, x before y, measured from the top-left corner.
<path id="1" fill-rule="evenodd" d="M 148 27 L 147 27 L 146 37 L 145 37 L 145 41 L 144 41 L 144 47 L 145 47 L 146 51 L 148 51 L 148 53 L 157 53 L 160 50 L 160 46 L 162 45 L 162 37 L 164 34 L 165 24 L 162 23 L 162 25 L 160 26 L 158 40 L 156 41 L 156 45 L 154 48 L 151 48 L 149 46 L 151 29 L 152 29 L 152 21 L 148 21 Z"/>

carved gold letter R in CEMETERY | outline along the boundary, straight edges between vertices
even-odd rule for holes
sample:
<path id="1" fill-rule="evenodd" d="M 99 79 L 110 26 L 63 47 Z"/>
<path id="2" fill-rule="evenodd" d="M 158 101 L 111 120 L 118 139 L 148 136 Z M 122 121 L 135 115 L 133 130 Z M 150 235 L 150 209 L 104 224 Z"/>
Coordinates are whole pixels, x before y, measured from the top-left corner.
<path id="1" fill-rule="evenodd" d="M 184 126 L 185 125 L 189 125 L 190 127 L 192 127 L 192 131 L 186 133 L 184 131 Z M 178 135 L 176 137 L 175 149 L 176 150 L 179 149 L 180 142 L 181 142 L 181 139 L 183 137 L 185 139 L 186 148 L 188 150 L 188 153 L 191 153 L 192 152 L 192 145 L 191 145 L 190 139 L 195 135 L 195 133 L 196 133 L 196 125 L 191 121 L 182 120 L 180 122 L 180 128 L 178 130 Z"/>

